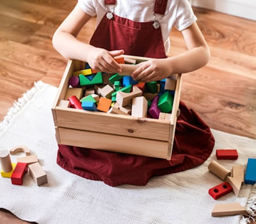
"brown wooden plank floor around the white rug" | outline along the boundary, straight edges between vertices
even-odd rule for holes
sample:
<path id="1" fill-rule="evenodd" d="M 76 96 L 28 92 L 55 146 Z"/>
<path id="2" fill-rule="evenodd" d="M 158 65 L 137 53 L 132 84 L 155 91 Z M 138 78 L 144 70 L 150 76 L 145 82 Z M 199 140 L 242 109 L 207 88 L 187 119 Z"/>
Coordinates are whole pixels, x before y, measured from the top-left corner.
<path id="1" fill-rule="evenodd" d="M 67 60 L 53 49 L 51 38 L 76 2 L 0 1 L 0 121 L 35 81 L 60 83 Z M 211 61 L 184 74 L 181 100 L 212 129 L 256 138 L 256 22 L 200 8 L 194 12 Z M 94 26 L 92 19 L 79 39 L 88 42 Z M 169 56 L 186 51 L 180 33 L 173 29 L 171 36 Z M 0 223 L 6 214 L 0 212 Z"/>

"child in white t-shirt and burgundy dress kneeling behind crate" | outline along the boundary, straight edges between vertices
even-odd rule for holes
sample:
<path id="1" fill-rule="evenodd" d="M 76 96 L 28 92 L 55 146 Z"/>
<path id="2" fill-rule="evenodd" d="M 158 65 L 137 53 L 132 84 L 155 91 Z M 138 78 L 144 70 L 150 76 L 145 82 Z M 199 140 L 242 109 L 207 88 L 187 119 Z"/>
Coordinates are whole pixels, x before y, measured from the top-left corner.
<path id="1" fill-rule="evenodd" d="M 84 44 L 76 36 L 94 15 L 97 28 L 90 45 Z M 188 51 L 167 58 L 173 26 L 184 36 Z M 145 83 L 191 72 L 203 67 L 210 57 L 188 0 L 78 0 L 54 33 L 52 43 L 65 58 L 86 61 L 94 70 L 108 73 L 122 72 L 113 59 L 121 54 L 154 58 L 140 63 L 132 73 L 134 80 Z M 204 163 L 214 145 L 211 131 L 182 102 L 180 111 L 171 161 L 60 145 L 58 164 L 77 175 L 116 186 L 146 184 L 152 175 L 179 172 Z"/>

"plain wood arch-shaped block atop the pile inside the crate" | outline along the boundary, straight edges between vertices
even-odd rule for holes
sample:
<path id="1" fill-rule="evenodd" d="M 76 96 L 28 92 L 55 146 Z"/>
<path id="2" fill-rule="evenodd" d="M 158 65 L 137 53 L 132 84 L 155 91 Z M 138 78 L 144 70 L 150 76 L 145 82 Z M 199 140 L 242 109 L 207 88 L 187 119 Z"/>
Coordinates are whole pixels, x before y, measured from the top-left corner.
<path id="1" fill-rule="evenodd" d="M 141 97 L 141 95 L 143 95 L 143 92 L 137 86 L 132 86 L 131 93 L 118 91 L 116 93 L 116 102 L 118 102 L 120 106 L 127 106 L 132 103 L 132 98 Z"/>

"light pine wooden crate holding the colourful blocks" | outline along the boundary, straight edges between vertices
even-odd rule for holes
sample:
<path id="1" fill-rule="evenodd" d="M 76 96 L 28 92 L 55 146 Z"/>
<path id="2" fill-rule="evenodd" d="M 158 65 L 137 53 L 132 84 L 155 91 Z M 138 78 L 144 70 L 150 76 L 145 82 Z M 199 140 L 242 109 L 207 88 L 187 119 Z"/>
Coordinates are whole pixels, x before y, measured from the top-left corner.
<path id="1" fill-rule="evenodd" d="M 125 56 L 137 63 L 150 58 Z M 58 144 L 123 152 L 170 160 L 177 116 L 179 116 L 181 74 L 177 75 L 171 120 L 136 118 L 125 115 L 61 108 L 68 79 L 72 72 L 81 70 L 81 61 L 68 61 L 56 99 L 52 116 Z"/>

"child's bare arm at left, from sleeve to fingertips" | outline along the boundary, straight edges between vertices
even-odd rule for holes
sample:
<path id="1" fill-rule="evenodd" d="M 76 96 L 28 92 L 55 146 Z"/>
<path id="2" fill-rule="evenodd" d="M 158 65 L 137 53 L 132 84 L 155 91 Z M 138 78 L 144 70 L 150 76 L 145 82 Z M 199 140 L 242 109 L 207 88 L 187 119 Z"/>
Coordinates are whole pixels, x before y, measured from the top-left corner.
<path id="1" fill-rule="evenodd" d="M 77 40 L 79 31 L 90 19 L 91 16 L 77 5 L 54 33 L 52 45 L 63 57 L 86 61 L 94 70 L 121 72 L 121 66 L 113 57 L 124 54 L 124 51 L 106 51 Z"/>

